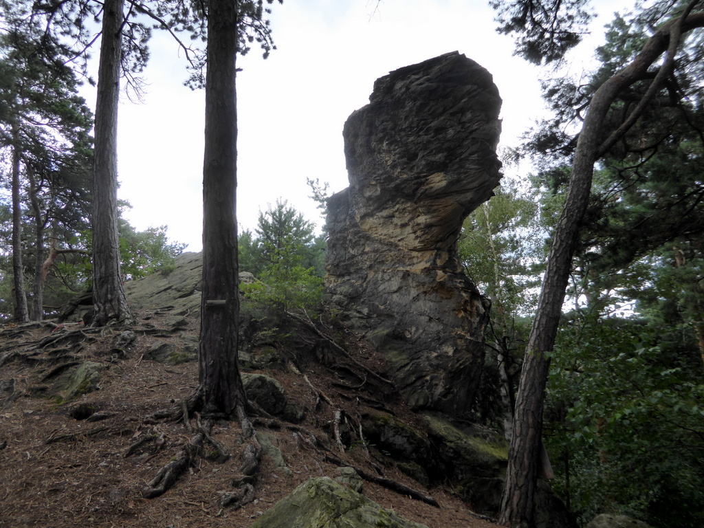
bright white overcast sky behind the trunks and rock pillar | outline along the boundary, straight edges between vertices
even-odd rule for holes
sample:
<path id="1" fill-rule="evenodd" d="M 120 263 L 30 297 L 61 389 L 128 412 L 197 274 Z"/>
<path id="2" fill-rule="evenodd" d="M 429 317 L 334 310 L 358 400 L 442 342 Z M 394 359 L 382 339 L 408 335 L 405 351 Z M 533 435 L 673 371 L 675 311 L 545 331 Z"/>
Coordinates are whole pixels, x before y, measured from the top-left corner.
<path id="1" fill-rule="evenodd" d="M 541 73 L 496 34 L 485 0 L 284 0 L 272 10 L 277 50 L 264 61 L 253 49 L 238 62 L 241 228 L 253 229 L 279 198 L 322 223 L 306 177 L 347 187 L 342 127 L 391 70 L 448 51 L 477 61 L 501 93 L 506 146 L 541 113 Z M 145 77 L 144 102 L 120 105 L 119 196 L 138 230 L 168 225 L 170 239 L 200 251 L 204 94 L 182 85 L 183 54 L 163 34 L 151 42 Z"/>

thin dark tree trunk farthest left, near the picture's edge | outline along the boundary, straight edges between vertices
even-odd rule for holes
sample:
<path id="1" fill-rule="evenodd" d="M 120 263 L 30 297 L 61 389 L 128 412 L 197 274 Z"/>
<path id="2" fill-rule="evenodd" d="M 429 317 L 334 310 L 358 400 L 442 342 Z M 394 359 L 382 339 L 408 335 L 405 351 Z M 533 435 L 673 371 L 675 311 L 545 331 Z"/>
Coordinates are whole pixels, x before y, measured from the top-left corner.
<path id="1" fill-rule="evenodd" d="M 22 259 L 22 203 L 20 203 L 20 131 L 12 126 L 12 272 L 15 290 L 15 321 L 27 322 L 27 294 L 25 292 L 25 266 Z"/>

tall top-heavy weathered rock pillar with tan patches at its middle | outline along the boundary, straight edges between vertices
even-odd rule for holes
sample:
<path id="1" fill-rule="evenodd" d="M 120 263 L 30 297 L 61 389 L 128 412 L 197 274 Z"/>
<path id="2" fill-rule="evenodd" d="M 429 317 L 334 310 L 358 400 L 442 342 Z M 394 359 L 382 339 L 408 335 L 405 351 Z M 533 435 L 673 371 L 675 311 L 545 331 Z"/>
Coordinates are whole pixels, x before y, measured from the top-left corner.
<path id="1" fill-rule="evenodd" d="M 413 408 L 461 416 L 477 389 L 489 302 L 455 246 L 501 178 L 500 108 L 489 72 L 454 52 L 378 79 L 344 126 L 350 185 L 328 202 L 326 291 Z"/>

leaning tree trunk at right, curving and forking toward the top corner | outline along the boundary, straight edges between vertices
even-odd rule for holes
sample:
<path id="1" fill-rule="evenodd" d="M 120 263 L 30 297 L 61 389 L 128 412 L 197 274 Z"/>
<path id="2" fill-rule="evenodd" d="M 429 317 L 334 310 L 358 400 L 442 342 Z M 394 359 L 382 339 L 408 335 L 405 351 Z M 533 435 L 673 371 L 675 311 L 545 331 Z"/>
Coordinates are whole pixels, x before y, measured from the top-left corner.
<path id="1" fill-rule="evenodd" d="M 691 4 L 693 6 L 693 4 Z M 535 526 L 535 491 L 541 467 L 541 434 L 543 428 L 543 401 L 550 367 L 550 353 L 555 345 L 558 323 L 565 300 L 565 289 L 570 276 L 574 246 L 579 237 L 579 226 L 589 203 L 594 163 L 605 151 L 629 130 L 647 99 L 655 96 L 659 86 L 669 75 L 682 31 L 702 27 L 704 13 L 671 20 L 648 39 L 634 61 L 605 81 L 595 92 L 579 134 L 577 150 L 572 161 L 572 177 L 567 189 L 567 200 L 555 227 L 553 246 L 548 256 L 548 267 L 538 308 L 528 340 L 516 399 L 513 436 L 508 452 L 506 484 L 501 500 L 499 523 L 512 528 Z M 602 142 L 603 124 L 613 101 L 623 89 L 646 78 L 648 68 L 665 51 L 667 59 L 653 80 L 643 101 L 624 125 Z"/>

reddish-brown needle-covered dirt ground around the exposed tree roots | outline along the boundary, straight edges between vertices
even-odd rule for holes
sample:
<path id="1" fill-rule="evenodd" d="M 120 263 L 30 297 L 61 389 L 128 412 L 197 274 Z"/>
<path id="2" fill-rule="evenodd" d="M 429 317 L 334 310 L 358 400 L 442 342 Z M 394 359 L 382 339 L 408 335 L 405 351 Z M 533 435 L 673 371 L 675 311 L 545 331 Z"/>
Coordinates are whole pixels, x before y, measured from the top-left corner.
<path id="1" fill-rule="evenodd" d="M 96 332 L 80 325 L 56 329 L 51 324 L 0 327 L 0 527 L 249 527 L 298 484 L 311 477 L 337 476 L 338 465 L 326 461 L 325 450 L 302 441 L 303 435 L 286 427 L 258 425 L 258 431 L 268 433 L 281 449 L 290 473 L 265 455 L 256 500 L 239 510 L 220 508 L 221 494 L 232 490 L 230 479 L 239 467 L 241 443 L 237 422 L 222 420 L 215 423 L 213 436 L 233 453 L 230 460 L 198 458 L 163 496 L 142 498 L 144 486 L 192 436 L 183 422 L 145 419 L 177 406 L 193 394 L 198 380 L 197 363 L 163 365 L 144 359 L 144 351 L 155 341 L 182 346 L 184 337 L 197 335 L 198 322 L 169 332 L 160 330 L 158 315 L 149 313 L 148 325 L 146 314 L 138 315 L 142 316 L 142 324 L 134 328 L 138 339 L 124 354 L 114 348 L 117 330 Z M 63 341 L 48 342 L 63 334 L 67 336 Z M 384 372 L 373 351 L 360 346 L 355 352 L 360 363 Z M 298 372 L 286 368 L 259 372 L 276 377 L 289 398 L 306 409 L 306 418 L 297 427 L 315 435 L 344 463 L 422 491 L 440 507 L 372 482 L 364 482 L 367 498 L 429 528 L 496 527 L 472 513 L 471 505 L 453 496 L 451 489 L 425 489 L 406 477 L 373 446 L 351 441 L 341 452 L 332 434 L 336 410 L 344 411 L 350 425 L 379 406 L 408 422 L 417 422 L 418 417 L 393 391 L 379 394 L 373 386 L 357 385 L 352 390 L 345 370 L 354 365 L 331 368 L 296 354 L 291 357 L 298 357 L 293 360 Z M 106 367 L 98 390 L 70 402 L 51 396 L 51 386 L 65 365 L 87 360 Z M 160 440 L 134 448 L 127 456 L 130 446 L 147 434 Z"/>

